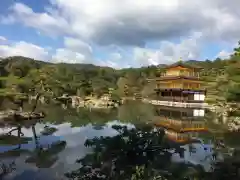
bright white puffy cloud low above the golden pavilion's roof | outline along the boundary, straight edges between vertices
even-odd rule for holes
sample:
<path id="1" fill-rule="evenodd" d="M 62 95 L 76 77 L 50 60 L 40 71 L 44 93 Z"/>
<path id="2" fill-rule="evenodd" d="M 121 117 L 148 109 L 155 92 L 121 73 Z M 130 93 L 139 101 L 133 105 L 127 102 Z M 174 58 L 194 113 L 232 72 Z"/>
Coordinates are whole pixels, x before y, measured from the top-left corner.
<path id="1" fill-rule="evenodd" d="M 156 50 L 136 47 L 133 52 L 135 65 L 169 64 L 178 61 L 179 58 L 199 59 L 202 46 L 201 36 L 201 33 L 194 33 L 180 43 L 162 41 Z"/>

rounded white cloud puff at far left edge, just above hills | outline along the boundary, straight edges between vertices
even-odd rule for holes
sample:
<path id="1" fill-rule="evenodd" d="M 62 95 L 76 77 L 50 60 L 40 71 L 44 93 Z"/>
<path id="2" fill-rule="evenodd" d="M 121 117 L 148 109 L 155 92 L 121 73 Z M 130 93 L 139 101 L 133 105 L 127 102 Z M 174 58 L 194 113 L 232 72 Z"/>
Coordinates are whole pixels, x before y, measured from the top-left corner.
<path id="1" fill-rule="evenodd" d="M 38 60 L 48 60 L 49 58 L 49 54 L 44 48 L 25 41 L 0 45 L 0 56 L 26 56 Z"/>

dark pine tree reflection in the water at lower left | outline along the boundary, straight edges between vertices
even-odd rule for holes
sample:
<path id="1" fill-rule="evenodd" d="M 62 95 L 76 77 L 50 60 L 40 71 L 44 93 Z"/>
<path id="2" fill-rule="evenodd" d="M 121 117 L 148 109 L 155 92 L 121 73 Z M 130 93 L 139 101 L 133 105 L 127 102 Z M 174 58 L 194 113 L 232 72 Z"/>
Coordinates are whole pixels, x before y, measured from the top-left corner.
<path id="1" fill-rule="evenodd" d="M 48 144 L 46 147 L 46 144 L 41 144 L 39 142 L 39 137 L 37 136 L 35 125 L 38 121 L 35 121 L 34 123 L 26 122 L 18 124 L 17 128 L 14 128 L 13 131 L 17 131 L 17 136 L 12 135 L 12 130 L 10 133 L 3 134 L 0 136 L 0 144 L 3 147 L 11 147 L 15 146 L 15 148 L 12 148 L 8 151 L 5 151 L 1 153 L 1 158 L 7 158 L 7 157 L 19 157 L 23 154 L 28 155 L 28 158 L 25 160 L 26 163 L 34 164 L 38 168 L 50 168 L 57 160 L 58 160 L 58 153 L 63 151 L 66 147 L 65 141 L 56 141 L 51 144 Z M 30 137 L 24 137 L 24 134 L 22 133 L 22 127 L 25 128 L 31 128 L 33 133 L 33 139 L 35 148 L 32 149 L 24 149 L 22 148 L 22 145 L 28 144 L 30 141 L 32 141 L 32 138 Z M 51 127 L 45 127 L 43 132 L 40 134 L 42 135 L 51 135 L 56 131 L 56 129 L 53 129 Z M 17 145 L 17 147 L 16 147 Z M 1 162 L 1 171 L 0 171 L 0 179 L 3 179 L 4 176 L 8 175 L 9 173 L 12 173 L 15 169 L 14 165 L 15 162 L 12 162 L 10 164 L 5 164 Z"/>

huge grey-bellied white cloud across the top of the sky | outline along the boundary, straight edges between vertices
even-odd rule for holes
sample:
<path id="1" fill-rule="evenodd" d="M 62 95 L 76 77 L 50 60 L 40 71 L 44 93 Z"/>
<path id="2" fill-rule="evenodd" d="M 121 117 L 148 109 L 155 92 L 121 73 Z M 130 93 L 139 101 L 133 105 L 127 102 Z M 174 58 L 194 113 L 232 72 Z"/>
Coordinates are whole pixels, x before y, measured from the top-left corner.
<path id="1" fill-rule="evenodd" d="M 42 13 L 15 3 L 2 21 L 9 19 L 51 35 L 67 34 L 99 45 L 143 47 L 150 40 L 170 40 L 195 31 L 203 32 L 208 40 L 235 40 L 240 36 L 240 26 L 236 26 L 239 6 L 239 0 L 51 0 Z"/>

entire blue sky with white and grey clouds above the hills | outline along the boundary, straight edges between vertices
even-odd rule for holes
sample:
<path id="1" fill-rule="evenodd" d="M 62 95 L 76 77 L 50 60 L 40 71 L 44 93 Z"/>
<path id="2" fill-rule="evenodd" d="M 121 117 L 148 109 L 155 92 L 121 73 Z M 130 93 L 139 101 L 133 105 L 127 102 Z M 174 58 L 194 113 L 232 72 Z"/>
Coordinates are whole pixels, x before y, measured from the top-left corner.
<path id="1" fill-rule="evenodd" d="M 0 56 L 115 68 L 228 57 L 240 1 L 1 0 Z"/>

